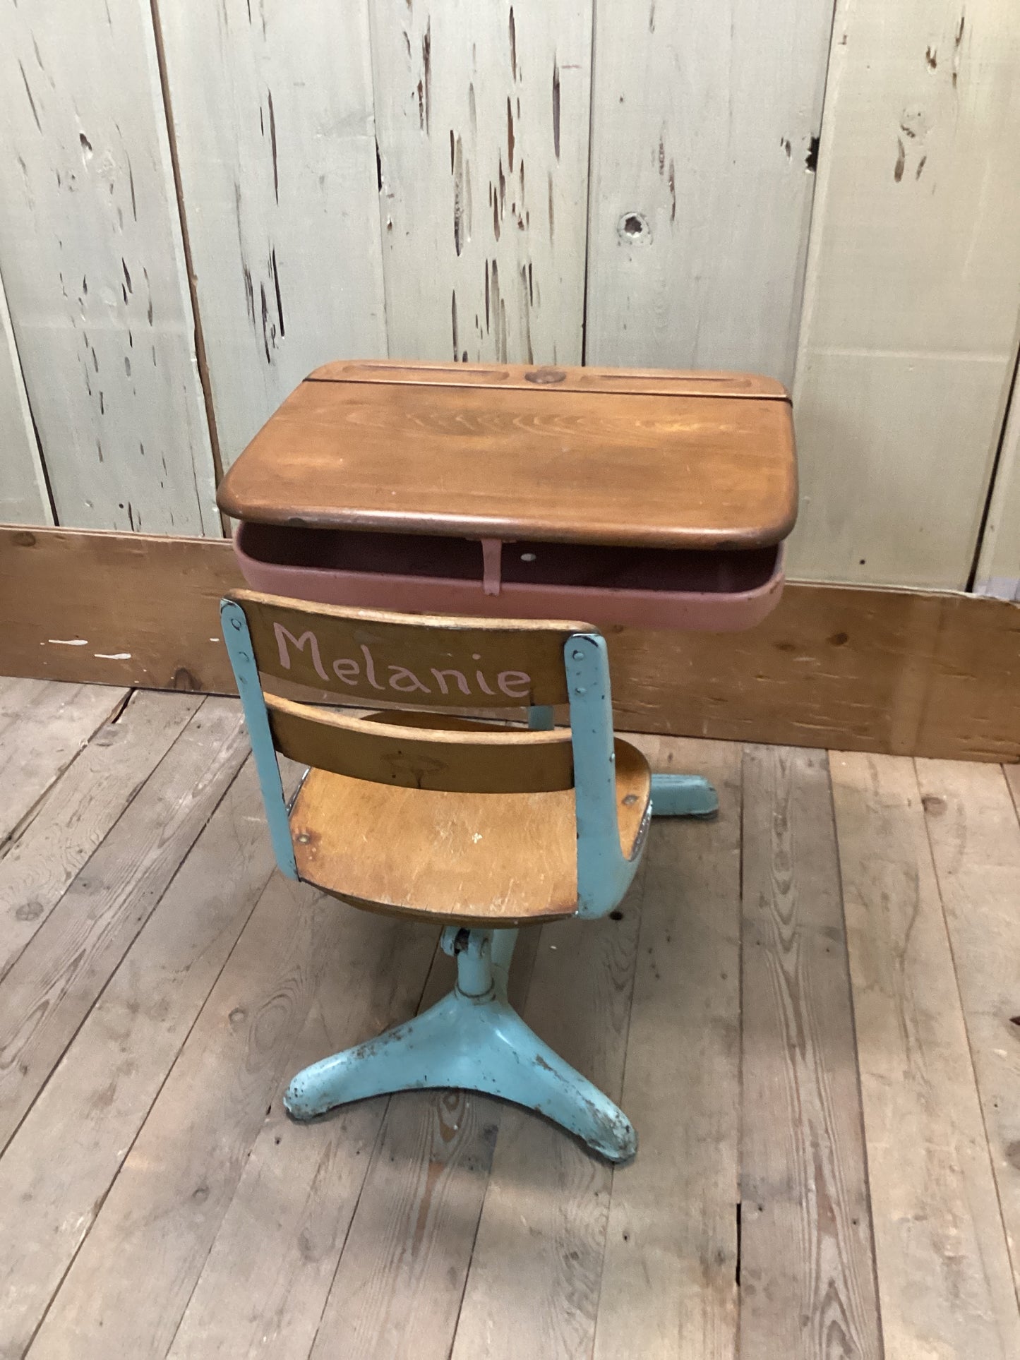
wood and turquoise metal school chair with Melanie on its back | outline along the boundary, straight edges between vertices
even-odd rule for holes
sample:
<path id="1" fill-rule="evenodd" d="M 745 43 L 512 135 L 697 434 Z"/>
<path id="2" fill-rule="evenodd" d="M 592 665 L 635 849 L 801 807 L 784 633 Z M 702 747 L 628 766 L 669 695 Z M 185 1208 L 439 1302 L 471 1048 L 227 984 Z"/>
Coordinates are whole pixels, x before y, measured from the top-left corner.
<path id="1" fill-rule="evenodd" d="M 698 777 L 653 777 L 613 738 L 605 641 L 583 623 L 339 608 L 237 590 L 220 607 L 280 870 L 355 907 L 445 926 L 457 983 L 430 1010 L 299 1072 L 284 1104 L 464 1088 L 544 1114 L 611 1161 L 627 1117 L 507 1002 L 520 926 L 612 911 L 656 813 L 711 813 Z M 260 675 L 362 704 L 267 692 Z M 554 728 L 568 703 L 570 728 Z M 450 709 L 529 710 L 528 729 Z M 309 767 L 290 805 L 276 753 Z"/>

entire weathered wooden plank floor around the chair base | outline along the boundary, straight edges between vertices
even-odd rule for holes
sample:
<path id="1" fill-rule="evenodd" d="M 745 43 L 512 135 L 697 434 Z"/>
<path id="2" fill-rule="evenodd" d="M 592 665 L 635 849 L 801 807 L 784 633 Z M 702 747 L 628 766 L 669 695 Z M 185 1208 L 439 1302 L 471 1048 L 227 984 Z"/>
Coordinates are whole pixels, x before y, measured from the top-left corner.
<path id="1" fill-rule="evenodd" d="M 462 1092 L 291 1123 L 438 930 L 273 870 L 233 700 L 0 680 L 0 1356 L 1017 1360 L 1016 770 L 635 740 L 719 817 L 511 978 L 613 1171 Z"/>

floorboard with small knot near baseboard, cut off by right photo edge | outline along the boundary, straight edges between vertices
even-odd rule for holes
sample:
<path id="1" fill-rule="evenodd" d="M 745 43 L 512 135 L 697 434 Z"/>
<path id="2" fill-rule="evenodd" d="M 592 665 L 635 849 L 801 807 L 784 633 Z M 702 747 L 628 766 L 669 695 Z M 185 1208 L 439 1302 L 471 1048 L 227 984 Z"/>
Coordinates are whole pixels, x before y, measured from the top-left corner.
<path id="1" fill-rule="evenodd" d="M 1020 1296 L 1020 824 L 994 766 L 917 774 Z"/>

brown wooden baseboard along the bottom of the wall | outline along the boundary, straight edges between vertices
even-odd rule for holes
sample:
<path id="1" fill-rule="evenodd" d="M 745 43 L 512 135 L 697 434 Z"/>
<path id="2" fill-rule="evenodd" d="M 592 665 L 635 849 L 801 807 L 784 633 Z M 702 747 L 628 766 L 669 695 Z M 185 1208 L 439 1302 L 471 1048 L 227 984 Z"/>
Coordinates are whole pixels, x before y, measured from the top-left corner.
<path id="1" fill-rule="evenodd" d="M 230 543 L 0 528 L 0 675 L 234 691 Z M 608 630 L 622 730 L 1020 760 L 1020 605 L 789 585 L 741 634 Z"/>

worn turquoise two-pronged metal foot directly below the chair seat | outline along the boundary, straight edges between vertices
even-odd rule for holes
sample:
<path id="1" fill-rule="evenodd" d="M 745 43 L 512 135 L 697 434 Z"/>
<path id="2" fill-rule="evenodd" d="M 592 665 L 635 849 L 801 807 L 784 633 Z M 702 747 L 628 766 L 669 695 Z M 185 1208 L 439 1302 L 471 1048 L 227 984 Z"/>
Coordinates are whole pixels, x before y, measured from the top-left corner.
<path id="1" fill-rule="evenodd" d="M 332 1058 L 305 1068 L 283 1103 L 295 1119 L 335 1106 L 424 1087 L 483 1091 L 536 1110 L 609 1161 L 627 1161 L 638 1137 L 608 1096 L 528 1028 L 492 989 L 450 991 L 430 1010 Z"/>

